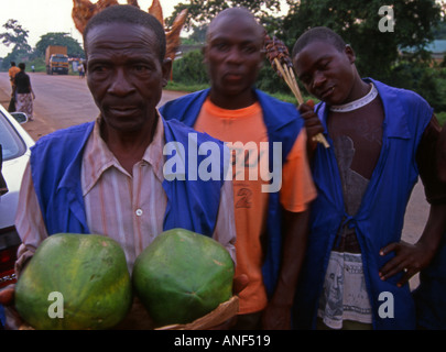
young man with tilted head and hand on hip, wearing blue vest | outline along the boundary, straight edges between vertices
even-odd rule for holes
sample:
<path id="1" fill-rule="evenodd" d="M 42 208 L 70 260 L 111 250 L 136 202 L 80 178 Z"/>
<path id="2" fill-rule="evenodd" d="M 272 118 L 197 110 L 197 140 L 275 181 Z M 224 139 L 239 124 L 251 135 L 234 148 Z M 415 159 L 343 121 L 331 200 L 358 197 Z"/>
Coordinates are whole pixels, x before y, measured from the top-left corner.
<path id="1" fill-rule="evenodd" d="M 313 177 L 311 235 L 296 295 L 301 329 L 414 329 L 409 279 L 433 258 L 446 221 L 445 185 L 435 166 L 439 125 L 418 95 L 361 79 L 356 56 L 326 28 L 304 33 L 293 64 L 320 100 L 301 111 Z M 330 147 L 309 136 L 322 132 Z M 415 244 L 401 241 L 418 174 L 431 213 Z"/>

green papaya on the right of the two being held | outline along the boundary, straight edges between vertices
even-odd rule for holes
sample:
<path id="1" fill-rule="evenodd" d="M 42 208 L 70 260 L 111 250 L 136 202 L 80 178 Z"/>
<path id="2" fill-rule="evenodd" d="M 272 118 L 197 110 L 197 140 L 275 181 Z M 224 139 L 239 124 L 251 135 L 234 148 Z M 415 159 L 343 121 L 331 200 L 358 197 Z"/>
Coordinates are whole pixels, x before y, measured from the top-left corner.
<path id="1" fill-rule="evenodd" d="M 135 295 L 156 327 L 187 323 L 232 297 L 235 267 L 229 252 L 211 238 L 173 229 L 137 257 Z"/>

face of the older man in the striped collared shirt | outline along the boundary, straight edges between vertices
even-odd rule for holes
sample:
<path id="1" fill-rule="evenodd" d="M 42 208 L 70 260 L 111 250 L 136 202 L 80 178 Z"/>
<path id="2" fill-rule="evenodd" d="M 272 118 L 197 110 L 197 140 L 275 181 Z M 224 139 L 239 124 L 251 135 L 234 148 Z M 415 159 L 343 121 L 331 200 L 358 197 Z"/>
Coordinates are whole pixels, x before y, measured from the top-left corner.
<path id="1" fill-rule="evenodd" d="M 86 38 L 88 87 L 101 117 L 122 132 L 139 131 L 156 119 L 171 65 L 160 61 L 151 30 L 133 24 L 102 24 Z"/>

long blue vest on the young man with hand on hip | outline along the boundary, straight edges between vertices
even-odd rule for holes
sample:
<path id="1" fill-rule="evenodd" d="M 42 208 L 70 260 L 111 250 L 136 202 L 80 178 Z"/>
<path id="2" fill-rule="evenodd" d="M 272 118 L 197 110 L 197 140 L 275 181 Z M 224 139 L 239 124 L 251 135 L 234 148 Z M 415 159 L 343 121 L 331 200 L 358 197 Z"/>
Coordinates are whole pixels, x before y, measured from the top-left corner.
<path id="1" fill-rule="evenodd" d="M 373 328 L 415 327 L 414 301 L 409 285 L 396 287 L 401 275 L 385 282 L 378 275 L 379 270 L 394 254 L 380 256 L 379 251 L 387 244 L 401 240 L 405 208 L 418 177 L 415 154 L 422 134 L 432 119 L 433 109 L 412 91 L 371 81 L 377 86 L 384 107 L 382 147 L 356 216 L 349 217 L 345 212 L 342 188 L 333 148 L 318 145 L 314 156 L 313 177 L 318 197 L 312 207 L 307 256 L 296 293 L 294 321 L 297 329 L 315 328 L 328 257 L 342 223 L 356 230 L 361 246 Z M 326 105 L 320 103 L 317 111 L 326 128 Z M 333 145 L 326 132 L 325 136 Z M 380 298 L 382 293 L 385 294 Z M 388 293 L 393 297 L 394 318 L 381 314 L 384 317 L 382 318 L 379 315 L 380 306 L 388 304 L 387 299 L 383 299 L 390 296 Z"/>

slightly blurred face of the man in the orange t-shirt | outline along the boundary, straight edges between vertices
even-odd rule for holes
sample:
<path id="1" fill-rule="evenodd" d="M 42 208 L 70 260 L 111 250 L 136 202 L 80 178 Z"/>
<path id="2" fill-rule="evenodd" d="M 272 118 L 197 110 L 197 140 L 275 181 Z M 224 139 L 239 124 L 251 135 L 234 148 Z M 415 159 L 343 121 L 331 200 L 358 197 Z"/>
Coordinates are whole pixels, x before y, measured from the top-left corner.
<path id="1" fill-rule="evenodd" d="M 213 90 L 228 98 L 251 94 L 263 62 L 262 46 L 262 34 L 252 21 L 220 19 L 208 33 L 205 51 Z"/>

